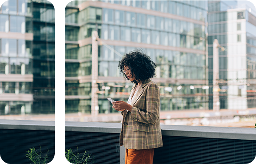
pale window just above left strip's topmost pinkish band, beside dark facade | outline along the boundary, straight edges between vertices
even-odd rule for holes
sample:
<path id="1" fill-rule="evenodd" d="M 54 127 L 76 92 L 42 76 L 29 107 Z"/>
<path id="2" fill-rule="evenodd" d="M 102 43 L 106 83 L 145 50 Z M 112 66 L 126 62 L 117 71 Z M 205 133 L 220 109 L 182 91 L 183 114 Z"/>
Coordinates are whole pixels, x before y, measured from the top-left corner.
<path id="1" fill-rule="evenodd" d="M 25 33 L 25 16 L 10 16 L 10 32 Z"/>

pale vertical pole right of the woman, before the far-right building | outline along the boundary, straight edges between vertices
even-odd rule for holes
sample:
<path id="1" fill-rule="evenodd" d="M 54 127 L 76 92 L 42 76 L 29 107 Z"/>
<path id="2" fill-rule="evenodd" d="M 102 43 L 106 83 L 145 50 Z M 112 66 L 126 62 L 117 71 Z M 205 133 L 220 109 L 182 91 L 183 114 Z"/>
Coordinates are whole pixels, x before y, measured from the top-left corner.
<path id="1" fill-rule="evenodd" d="M 219 42 L 213 41 L 213 111 L 219 111 Z"/>

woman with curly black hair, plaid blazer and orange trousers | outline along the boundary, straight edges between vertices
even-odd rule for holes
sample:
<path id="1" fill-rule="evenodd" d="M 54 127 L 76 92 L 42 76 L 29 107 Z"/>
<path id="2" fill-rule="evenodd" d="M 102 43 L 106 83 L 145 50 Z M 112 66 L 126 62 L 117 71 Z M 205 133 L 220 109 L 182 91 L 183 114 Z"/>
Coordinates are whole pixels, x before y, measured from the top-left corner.
<path id="1" fill-rule="evenodd" d="M 126 148 L 125 164 L 153 164 L 154 148 L 163 146 L 160 128 L 160 90 L 150 78 L 156 64 L 141 51 L 133 51 L 119 61 L 120 72 L 134 82 L 128 102 L 113 102 L 122 111 L 120 146 Z"/>

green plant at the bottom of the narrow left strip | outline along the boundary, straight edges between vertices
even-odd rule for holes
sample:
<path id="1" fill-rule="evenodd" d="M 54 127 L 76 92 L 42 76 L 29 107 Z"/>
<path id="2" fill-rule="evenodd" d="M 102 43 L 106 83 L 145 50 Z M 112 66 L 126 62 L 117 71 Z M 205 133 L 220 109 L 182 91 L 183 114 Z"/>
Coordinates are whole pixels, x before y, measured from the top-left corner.
<path id="1" fill-rule="evenodd" d="M 28 157 L 30 159 L 31 162 L 33 162 L 34 164 L 46 164 L 48 161 L 48 152 L 49 150 L 46 152 L 46 154 L 44 155 L 44 157 L 42 156 L 43 152 L 41 150 L 41 145 L 40 145 L 40 152 L 38 153 L 36 150 L 36 148 L 29 148 L 29 151 L 26 151 L 26 157 Z"/>

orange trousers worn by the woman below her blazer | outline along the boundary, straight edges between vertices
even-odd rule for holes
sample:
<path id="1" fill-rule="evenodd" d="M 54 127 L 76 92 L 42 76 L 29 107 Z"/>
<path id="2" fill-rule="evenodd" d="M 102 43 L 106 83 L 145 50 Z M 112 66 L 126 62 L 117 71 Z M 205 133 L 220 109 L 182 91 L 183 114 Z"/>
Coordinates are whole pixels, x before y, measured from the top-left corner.
<path id="1" fill-rule="evenodd" d="M 125 164 L 153 164 L 155 149 L 126 149 Z"/>

